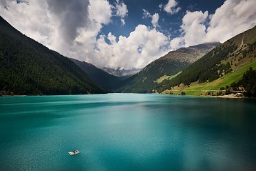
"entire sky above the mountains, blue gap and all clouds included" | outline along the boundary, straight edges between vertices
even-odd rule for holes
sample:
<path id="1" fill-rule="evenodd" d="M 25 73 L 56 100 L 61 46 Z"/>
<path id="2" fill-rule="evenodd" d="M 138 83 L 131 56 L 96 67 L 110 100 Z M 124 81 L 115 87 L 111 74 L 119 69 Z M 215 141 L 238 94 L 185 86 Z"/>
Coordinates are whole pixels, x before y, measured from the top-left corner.
<path id="1" fill-rule="evenodd" d="M 171 50 L 256 25 L 255 0 L 1 0 L 0 15 L 52 50 L 98 68 L 143 68 Z"/>

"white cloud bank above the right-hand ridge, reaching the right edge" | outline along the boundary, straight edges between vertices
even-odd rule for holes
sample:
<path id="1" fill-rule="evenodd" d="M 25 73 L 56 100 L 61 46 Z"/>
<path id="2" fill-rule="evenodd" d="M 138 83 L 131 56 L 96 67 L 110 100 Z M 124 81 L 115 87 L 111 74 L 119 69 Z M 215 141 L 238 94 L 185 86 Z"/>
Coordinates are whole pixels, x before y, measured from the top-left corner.
<path id="1" fill-rule="evenodd" d="M 256 1 L 226 0 L 214 14 L 208 11 L 186 11 L 182 19 L 182 36 L 170 42 L 171 48 L 220 41 L 256 25 Z"/>

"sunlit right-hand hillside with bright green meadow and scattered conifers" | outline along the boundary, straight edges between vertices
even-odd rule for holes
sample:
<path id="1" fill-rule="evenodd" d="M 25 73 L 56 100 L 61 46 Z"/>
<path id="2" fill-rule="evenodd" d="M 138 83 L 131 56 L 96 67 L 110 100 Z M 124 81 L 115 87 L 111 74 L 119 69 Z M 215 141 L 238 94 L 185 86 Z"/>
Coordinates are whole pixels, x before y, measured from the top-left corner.
<path id="1" fill-rule="evenodd" d="M 256 27 L 226 41 L 195 61 L 171 81 L 162 83 L 163 93 L 200 95 L 219 91 L 242 79 L 250 67 L 256 69 Z"/>

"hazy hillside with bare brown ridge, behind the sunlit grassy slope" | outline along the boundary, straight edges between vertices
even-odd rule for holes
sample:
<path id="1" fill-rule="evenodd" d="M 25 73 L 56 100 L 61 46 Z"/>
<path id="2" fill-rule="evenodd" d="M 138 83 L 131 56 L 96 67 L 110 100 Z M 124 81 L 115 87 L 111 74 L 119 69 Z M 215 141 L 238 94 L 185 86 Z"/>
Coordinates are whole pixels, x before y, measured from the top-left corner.
<path id="1" fill-rule="evenodd" d="M 152 92 L 160 82 L 175 74 L 178 74 L 184 68 L 187 68 L 194 61 L 200 59 L 207 52 L 215 48 L 220 43 L 204 43 L 188 48 L 180 48 L 171 51 L 164 57 L 160 57 L 149 63 L 142 71 L 133 77 L 122 82 L 120 92 Z M 167 77 L 164 77 L 167 76 Z M 168 77 L 169 76 L 169 77 Z M 161 80 L 161 81 L 160 81 Z"/>

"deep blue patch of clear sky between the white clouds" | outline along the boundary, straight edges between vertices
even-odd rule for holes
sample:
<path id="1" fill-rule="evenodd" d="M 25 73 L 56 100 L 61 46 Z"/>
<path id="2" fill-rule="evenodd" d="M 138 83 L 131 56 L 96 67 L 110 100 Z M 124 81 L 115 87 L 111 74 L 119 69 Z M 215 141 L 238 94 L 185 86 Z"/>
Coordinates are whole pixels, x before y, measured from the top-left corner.
<path id="1" fill-rule="evenodd" d="M 112 5 L 116 3 L 116 0 L 109 1 Z M 138 24 L 145 24 L 146 26 L 151 26 L 151 19 L 143 19 L 143 11 L 145 9 L 151 14 L 158 13 L 160 15 L 159 24 L 162 30 L 169 32 L 171 30 L 171 37 L 177 37 L 180 32 L 180 25 L 182 24 L 182 17 L 189 11 L 206 11 L 208 10 L 210 14 L 213 14 L 215 10 L 220 7 L 224 1 L 214 0 L 186 0 L 178 1 L 178 6 L 181 10 L 176 14 L 168 14 L 164 10 L 160 10 L 158 7 L 160 4 L 167 4 L 168 0 L 128 0 L 123 1 L 127 5 L 128 15 L 125 17 L 125 26 L 122 26 L 119 17 L 113 17 L 112 22 L 107 26 L 104 26 L 100 34 L 108 34 L 109 31 L 115 34 L 117 37 L 123 35 L 125 37 L 129 36 L 129 33 L 136 28 Z"/>

